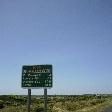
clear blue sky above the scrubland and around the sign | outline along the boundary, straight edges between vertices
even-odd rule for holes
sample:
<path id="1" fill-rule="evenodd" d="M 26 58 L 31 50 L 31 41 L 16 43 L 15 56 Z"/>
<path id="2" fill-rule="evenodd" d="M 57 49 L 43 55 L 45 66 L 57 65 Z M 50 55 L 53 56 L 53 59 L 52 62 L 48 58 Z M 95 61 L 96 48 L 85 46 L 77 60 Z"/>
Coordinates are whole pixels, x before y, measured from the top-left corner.
<path id="1" fill-rule="evenodd" d="M 0 94 L 29 64 L 53 65 L 48 94 L 112 93 L 112 1 L 0 0 Z"/>

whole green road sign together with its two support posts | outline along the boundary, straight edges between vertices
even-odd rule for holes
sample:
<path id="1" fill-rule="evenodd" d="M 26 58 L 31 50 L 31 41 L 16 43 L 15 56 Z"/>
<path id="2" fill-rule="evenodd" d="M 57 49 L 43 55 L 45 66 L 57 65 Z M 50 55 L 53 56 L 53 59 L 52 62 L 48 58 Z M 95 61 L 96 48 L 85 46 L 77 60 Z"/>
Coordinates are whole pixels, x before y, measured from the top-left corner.
<path id="1" fill-rule="evenodd" d="M 28 89 L 28 112 L 31 111 L 31 89 L 44 88 L 44 112 L 47 112 L 47 88 L 53 86 L 52 65 L 24 65 L 21 86 Z"/>

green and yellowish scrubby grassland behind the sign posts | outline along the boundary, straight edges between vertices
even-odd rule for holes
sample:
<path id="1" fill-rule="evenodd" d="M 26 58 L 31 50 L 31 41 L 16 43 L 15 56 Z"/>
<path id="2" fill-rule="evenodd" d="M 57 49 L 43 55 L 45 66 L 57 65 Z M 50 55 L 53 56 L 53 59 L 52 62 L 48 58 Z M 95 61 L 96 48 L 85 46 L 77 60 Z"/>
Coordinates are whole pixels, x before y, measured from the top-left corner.
<path id="1" fill-rule="evenodd" d="M 31 112 L 43 112 L 44 97 L 32 96 Z M 51 95 L 48 112 L 103 112 L 112 106 L 112 95 Z M 0 112 L 27 112 L 27 96 L 1 95 Z"/>

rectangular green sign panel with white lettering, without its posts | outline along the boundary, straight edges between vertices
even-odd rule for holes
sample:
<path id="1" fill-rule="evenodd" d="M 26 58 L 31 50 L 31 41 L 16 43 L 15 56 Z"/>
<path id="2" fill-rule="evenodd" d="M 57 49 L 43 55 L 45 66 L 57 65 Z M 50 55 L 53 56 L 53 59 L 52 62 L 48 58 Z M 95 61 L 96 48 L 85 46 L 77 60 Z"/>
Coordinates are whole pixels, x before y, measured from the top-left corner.
<path id="1" fill-rule="evenodd" d="M 32 65 L 22 68 L 23 88 L 51 88 L 52 65 Z"/>

